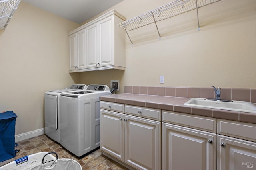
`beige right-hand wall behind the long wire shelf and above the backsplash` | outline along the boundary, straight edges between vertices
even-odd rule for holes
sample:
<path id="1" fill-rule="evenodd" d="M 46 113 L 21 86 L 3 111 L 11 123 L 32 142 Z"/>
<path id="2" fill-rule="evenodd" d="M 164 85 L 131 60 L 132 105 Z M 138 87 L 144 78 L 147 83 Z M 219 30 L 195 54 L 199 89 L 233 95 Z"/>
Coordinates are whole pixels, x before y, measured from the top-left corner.
<path id="1" fill-rule="evenodd" d="M 124 0 L 113 8 L 131 19 L 169 2 Z M 120 92 L 124 85 L 256 88 L 255 9 L 255 0 L 222 0 L 198 10 L 200 31 L 196 10 L 158 22 L 161 40 L 154 24 L 129 31 L 126 70 L 80 73 L 81 82 L 120 79 Z"/>

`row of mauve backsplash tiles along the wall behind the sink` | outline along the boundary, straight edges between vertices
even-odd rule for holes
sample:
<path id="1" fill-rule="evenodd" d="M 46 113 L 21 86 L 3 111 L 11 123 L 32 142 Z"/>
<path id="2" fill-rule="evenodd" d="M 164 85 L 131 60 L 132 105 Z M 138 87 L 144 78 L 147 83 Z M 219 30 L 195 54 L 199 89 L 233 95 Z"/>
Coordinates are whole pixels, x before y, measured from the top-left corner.
<path id="1" fill-rule="evenodd" d="M 181 98 L 215 98 L 212 87 L 156 87 L 156 86 L 124 86 L 124 92 L 130 94 L 147 94 Z M 242 100 L 256 104 L 256 89 L 253 88 L 221 88 L 221 99 Z"/>

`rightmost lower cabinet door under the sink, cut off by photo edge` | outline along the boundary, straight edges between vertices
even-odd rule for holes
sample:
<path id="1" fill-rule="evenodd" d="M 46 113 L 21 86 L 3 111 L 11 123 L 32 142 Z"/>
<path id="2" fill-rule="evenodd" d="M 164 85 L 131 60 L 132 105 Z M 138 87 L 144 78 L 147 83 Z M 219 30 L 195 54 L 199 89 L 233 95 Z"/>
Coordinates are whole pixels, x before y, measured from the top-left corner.
<path id="1" fill-rule="evenodd" d="M 255 169 L 255 142 L 218 135 L 218 170 Z"/>

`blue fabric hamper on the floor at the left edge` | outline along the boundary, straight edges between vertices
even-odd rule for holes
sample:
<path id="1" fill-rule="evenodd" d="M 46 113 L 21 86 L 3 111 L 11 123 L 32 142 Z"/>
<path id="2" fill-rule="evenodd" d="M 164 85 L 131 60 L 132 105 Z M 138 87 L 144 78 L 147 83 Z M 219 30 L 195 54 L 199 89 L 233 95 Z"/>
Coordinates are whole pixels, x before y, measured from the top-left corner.
<path id="1" fill-rule="evenodd" d="M 16 114 L 12 111 L 0 113 L 0 162 L 14 158 Z"/>

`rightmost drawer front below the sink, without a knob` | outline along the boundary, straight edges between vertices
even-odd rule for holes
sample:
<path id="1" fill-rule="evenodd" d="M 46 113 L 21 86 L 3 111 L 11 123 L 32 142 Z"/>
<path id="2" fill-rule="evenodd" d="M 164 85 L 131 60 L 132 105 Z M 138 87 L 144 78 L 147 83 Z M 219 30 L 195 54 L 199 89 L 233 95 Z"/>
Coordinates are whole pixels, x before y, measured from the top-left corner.
<path id="1" fill-rule="evenodd" d="M 256 142 L 256 124 L 218 119 L 218 134 Z"/>

